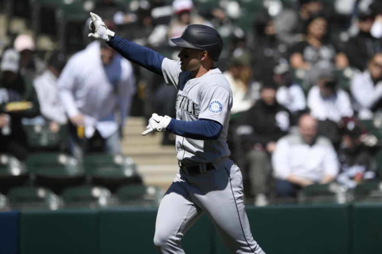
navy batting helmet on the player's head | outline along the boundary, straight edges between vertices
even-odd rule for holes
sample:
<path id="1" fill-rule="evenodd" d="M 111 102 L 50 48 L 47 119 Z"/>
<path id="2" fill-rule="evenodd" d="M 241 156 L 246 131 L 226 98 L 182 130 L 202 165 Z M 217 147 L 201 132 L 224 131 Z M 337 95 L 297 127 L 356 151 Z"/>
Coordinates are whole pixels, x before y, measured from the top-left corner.
<path id="1" fill-rule="evenodd" d="M 171 39 L 171 41 L 183 48 L 206 50 L 215 62 L 219 60 L 223 48 L 220 34 L 212 27 L 204 25 L 189 25 L 181 37 Z"/>

